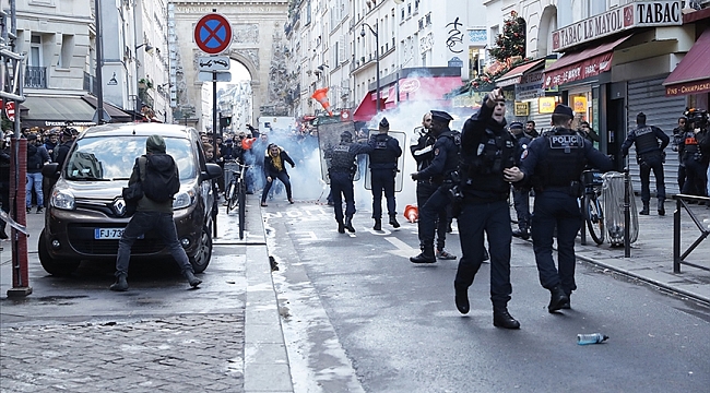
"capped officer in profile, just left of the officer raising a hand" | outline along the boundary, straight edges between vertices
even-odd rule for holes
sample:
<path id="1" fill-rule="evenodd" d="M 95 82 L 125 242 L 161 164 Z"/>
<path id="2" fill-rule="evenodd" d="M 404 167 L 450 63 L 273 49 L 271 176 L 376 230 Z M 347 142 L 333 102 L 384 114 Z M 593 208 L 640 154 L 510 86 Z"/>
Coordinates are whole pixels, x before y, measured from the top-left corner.
<path id="1" fill-rule="evenodd" d="M 461 134 L 449 129 L 451 115 L 441 110 L 431 110 L 431 130 L 436 138 L 434 143 L 434 159 L 426 168 L 412 174 L 412 180 L 431 179 L 439 184 L 434 193 L 419 206 L 419 245 L 422 253 L 410 258 L 412 263 L 434 263 L 434 233 L 436 231 L 437 217 L 451 203 L 449 190 L 453 186 L 453 174 L 459 166 L 459 146 Z M 445 218 L 446 224 L 446 218 Z"/>

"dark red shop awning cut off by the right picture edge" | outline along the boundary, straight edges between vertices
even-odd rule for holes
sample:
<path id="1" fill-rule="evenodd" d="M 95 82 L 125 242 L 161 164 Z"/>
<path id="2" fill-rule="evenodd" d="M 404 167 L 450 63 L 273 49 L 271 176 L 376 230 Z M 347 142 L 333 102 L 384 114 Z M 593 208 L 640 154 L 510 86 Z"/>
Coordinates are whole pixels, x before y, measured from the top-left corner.
<path id="1" fill-rule="evenodd" d="M 710 28 L 698 38 L 681 63 L 663 81 L 666 96 L 710 92 Z"/>

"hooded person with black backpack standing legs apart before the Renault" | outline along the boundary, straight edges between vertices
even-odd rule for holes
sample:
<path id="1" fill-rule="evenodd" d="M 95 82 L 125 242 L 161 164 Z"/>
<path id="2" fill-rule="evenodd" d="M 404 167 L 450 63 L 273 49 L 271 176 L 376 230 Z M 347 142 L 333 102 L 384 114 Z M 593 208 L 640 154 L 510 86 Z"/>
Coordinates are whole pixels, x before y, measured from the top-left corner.
<path id="1" fill-rule="evenodd" d="M 130 187 L 138 182 L 141 183 L 143 196 L 138 199 L 135 213 L 131 216 L 118 242 L 116 283 L 110 286 L 110 289 L 117 291 L 128 289 L 131 247 L 147 231 L 159 234 L 180 266 L 182 275 L 190 286 L 197 287 L 202 281 L 194 276 L 188 255 L 178 240 L 173 219 L 173 196 L 180 189 L 178 167 L 173 157 L 166 154 L 165 140 L 161 135 L 149 136 L 145 141 L 145 155 L 135 159 L 128 184 Z"/>

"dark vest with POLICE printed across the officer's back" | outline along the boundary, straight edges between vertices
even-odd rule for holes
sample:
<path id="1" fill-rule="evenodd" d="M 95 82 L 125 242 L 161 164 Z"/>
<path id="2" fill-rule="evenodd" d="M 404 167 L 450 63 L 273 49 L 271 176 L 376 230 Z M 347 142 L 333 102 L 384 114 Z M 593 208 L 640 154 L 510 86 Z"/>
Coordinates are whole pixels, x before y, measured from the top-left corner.
<path id="1" fill-rule="evenodd" d="M 535 188 L 569 187 L 579 181 L 587 164 L 584 138 L 561 129 L 544 139 L 545 153 L 541 154 L 532 181 Z"/>

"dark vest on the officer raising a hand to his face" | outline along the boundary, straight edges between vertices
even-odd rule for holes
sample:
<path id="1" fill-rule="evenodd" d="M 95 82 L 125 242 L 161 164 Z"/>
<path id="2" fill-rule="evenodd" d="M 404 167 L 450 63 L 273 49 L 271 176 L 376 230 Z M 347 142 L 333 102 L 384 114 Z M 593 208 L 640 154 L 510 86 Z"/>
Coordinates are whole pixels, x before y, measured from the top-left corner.
<path id="1" fill-rule="evenodd" d="M 505 181 L 502 170 L 516 165 L 517 143 L 509 132 L 496 134 L 486 128 L 475 151 L 461 156 L 460 175 L 465 177 L 464 190 L 504 194 L 510 192 L 510 184 Z M 506 194 L 507 196 L 507 194 Z"/>

